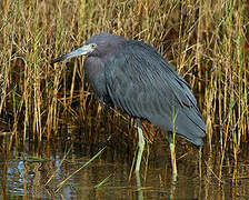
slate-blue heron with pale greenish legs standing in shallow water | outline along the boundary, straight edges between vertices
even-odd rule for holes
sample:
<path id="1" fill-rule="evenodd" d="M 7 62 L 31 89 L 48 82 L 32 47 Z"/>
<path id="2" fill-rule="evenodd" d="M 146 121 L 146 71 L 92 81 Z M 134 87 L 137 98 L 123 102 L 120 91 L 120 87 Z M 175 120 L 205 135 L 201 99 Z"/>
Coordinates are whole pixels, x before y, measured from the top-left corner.
<path id="1" fill-rule="evenodd" d="M 136 172 L 140 171 L 145 149 L 141 120 L 147 120 L 167 132 L 176 180 L 175 136 L 185 138 L 201 152 L 207 131 L 187 81 L 150 44 L 111 33 L 97 33 L 81 48 L 50 63 L 79 56 L 86 56 L 84 76 L 101 107 L 116 107 L 137 120 Z"/>

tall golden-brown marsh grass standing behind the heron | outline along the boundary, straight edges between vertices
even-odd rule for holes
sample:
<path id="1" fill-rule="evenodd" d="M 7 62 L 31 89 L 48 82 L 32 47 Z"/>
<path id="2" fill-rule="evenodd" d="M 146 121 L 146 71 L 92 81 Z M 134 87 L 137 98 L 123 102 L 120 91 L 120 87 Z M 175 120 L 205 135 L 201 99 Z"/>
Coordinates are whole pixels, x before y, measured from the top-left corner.
<path id="1" fill-rule="evenodd" d="M 86 124 L 86 138 L 136 141 L 135 122 L 103 114 L 83 77 L 82 60 L 49 62 L 98 32 L 142 40 L 155 47 L 189 82 L 207 121 L 206 154 L 218 147 L 219 171 L 228 152 L 233 182 L 241 144 L 248 141 L 248 1 L 66 1 L 3 0 L 0 18 L 0 117 L 2 131 L 41 141 L 58 134 L 62 119 Z M 104 120 L 104 122 L 103 122 Z M 159 134 L 146 126 L 151 142 Z M 151 137 L 152 136 L 152 137 Z M 13 137 L 13 138 L 12 138 Z"/>

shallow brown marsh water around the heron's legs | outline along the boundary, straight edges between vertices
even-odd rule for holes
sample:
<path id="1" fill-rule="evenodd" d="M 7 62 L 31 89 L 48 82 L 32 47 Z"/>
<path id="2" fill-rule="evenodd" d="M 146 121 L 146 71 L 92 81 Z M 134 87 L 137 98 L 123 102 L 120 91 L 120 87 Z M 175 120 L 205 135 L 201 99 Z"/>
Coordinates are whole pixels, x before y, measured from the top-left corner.
<path id="1" fill-rule="evenodd" d="M 153 143 L 148 166 L 145 153 L 140 177 L 131 173 L 129 179 L 132 153 L 118 150 L 120 143 L 91 146 L 58 138 L 40 144 L 27 141 L 24 147 L 13 142 L 9 148 L 3 137 L 10 136 L 1 136 L 0 199 L 249 199 L 248 157 L 238 163 L 237 184 L 232 184 L 233 166 L 228 161 L 219 186 L 215 153 L 205 150 L 199 179 L 198 151 L 178 143 L 179 176 L 172 184 L 167 141 Z M 98 158 L 72 174 L 103 147 Z"/>

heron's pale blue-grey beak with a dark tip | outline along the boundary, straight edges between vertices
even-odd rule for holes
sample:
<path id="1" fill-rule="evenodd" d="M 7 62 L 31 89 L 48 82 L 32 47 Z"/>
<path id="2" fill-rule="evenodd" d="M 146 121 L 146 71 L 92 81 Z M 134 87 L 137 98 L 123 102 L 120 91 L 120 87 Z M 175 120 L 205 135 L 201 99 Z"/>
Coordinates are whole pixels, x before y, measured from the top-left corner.
<path id="1" fill-rule="evenodd" d="M 70 58 L 74 58 L 74 57 L 78 57 L 78 56 L 83 56 L 83 54 L 88 54 L 90 52 L 92 52 L 94 50 L 94 48 L 91 46 L 91 44 L 86 44 L 68 54 L 64 54 L 62 57 L 59 57 L 57 59 L 54 59 L 52 62 L 50 62 L 50 64 L 53 64 L 56 62 L 60 62 L 62 60 L 66 60 L 66 59 L 70 59 Z"/>

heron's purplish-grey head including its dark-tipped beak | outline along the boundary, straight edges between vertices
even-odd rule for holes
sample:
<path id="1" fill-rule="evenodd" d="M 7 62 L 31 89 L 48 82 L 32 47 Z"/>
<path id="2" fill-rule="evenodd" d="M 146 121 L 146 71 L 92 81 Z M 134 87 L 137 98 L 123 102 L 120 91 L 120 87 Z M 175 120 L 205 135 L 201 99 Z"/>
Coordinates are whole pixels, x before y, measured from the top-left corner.
<path id="1" fill-rule="evenodd" d="M 94 34 L 86 41 L 86 44 L 83 47 L 54 59 L 51 64 L 79 56 L 92 56 L 101 58 L 114 51 L 117 47 L 124 41 L 127 41 L 124 38 L 114 34 Z"/>

